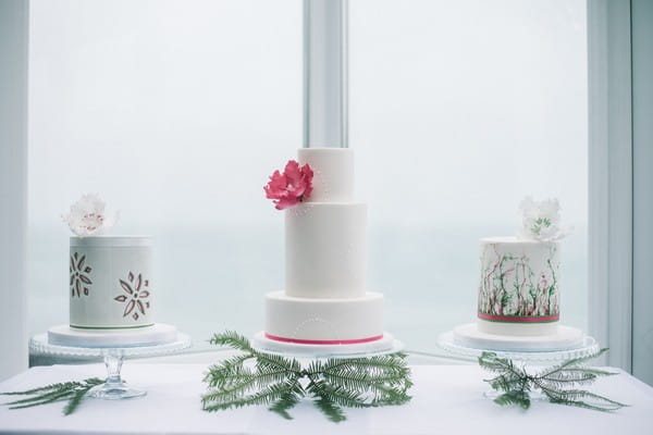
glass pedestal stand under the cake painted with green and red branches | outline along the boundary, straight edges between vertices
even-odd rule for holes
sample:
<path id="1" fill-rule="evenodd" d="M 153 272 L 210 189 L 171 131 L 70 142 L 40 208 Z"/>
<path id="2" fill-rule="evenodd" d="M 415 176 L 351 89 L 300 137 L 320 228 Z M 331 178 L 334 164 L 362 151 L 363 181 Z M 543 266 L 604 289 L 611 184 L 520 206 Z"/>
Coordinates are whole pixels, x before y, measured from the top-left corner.
<path id="1" fill-rule="evenodd" d="M 533 370 L 537 371 L 537 368 L 544 368 L 547 365 L 558 364 L 563 361 L 572 358 L 584 358 L 591 355 L 597 353 L 601 350 L 599 343 L 590 337 L 584 336 L 582 338 L 582 343 L 572 349 L 562 349 L 562 350 L 552 350 L 552 351 L 503 351 L 503 350 L 490 350 L 490 349 L 478 349 L 472 347 L 465 347 L 456 344 L 454 338 L 454 332 L 448 331 L 444 334 L 441 334 L 438 337 L 438 346 L 442 349 L 446 350 L 449 353 L 453 353 L 458 357 L 467 357 L 467 358 L 479 358 L 483 352 L 492 352 L 495 353 L 500 358 L 505 358 L 512 360 L 515 364 L 522 366 L 527 372 Z M 494 400 L 502 393 L 495 389 L 489 389 L 483 393 L 483 396 Z M 539 390 L 529 391 L 529 396 L 531 400 L 544 400 L 546 397 Z"/>

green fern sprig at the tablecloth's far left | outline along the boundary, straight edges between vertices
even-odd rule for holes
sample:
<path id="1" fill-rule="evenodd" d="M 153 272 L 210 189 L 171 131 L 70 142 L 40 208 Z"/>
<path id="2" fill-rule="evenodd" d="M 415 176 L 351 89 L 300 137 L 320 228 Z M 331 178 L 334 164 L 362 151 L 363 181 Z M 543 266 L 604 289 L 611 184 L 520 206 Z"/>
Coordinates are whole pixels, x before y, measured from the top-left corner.
<path id="1" fill-rule="evenodd" d="M 24 399 L 7 402 L 9 409 L 22 409 L 36 407 L 38 405 L 52 403 L 54 401 L 67 400 L 63 408 L 63 414 L 70 415 L 79 407 L 86 393 L 96 385 L 102 384 L 104 381 L 98 377 L 90 377 L 81 382 L 62 382 L 58 384 L 46 385 L 27 389 L 24 391 L 0 393 L 4 396 L 32 396 Z"/>

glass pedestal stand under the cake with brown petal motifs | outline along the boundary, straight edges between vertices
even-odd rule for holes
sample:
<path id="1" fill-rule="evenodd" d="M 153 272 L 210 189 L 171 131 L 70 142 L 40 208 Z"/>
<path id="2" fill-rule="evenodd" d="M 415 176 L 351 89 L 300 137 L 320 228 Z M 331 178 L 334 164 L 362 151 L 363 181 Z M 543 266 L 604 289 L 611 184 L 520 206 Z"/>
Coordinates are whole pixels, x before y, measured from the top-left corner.
<path id="1" fill-rule="evenodd" d="M 192 345 L 190 337 L 177 333 L 177 339 L 171 343 L 150 346 L 134 347 L 72 347 L 59 346 L 48 343 L 47 334 L 39 334 L 29 340 L 29 350 L 51 356 L 63 357 L 101 357 L 107 366 L 107 380 L 103 384 L 88 391 L 90 397 L 97 399 L 119 400 L 141 397 L 145 390 L 130 387 L 122 380 L 120 373 L 125 357 L 159 357 L 176 353 Z"/>

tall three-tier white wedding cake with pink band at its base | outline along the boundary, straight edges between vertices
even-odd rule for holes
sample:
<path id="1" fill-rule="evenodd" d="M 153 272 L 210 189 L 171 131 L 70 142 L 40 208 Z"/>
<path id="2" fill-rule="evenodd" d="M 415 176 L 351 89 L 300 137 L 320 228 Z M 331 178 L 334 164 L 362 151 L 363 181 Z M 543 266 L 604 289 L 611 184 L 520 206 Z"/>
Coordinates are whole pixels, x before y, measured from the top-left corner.
<path id="1" fill-rule="evenodd" d="M 285 289 L 266 296 L 264 336 L 306 345 L 382 340 L 383 296 L 367 291 L 367 204 L 353 199 L 353 152 L 300 149 L 298 166 L 312 179 L 285 210 Z"/>

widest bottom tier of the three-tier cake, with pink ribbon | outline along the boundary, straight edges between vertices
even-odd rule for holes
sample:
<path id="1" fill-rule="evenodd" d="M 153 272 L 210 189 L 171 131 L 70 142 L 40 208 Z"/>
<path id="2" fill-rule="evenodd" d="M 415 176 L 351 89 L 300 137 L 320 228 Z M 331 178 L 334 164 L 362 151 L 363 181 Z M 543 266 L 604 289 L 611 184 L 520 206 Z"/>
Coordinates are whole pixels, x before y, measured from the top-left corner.
<path id="1" fill-rule="evenodd" d="M 383 337 L 383 295 L 305 299 L 266 295 L 266 336 L 299 344 L 357 344 Z"/>

